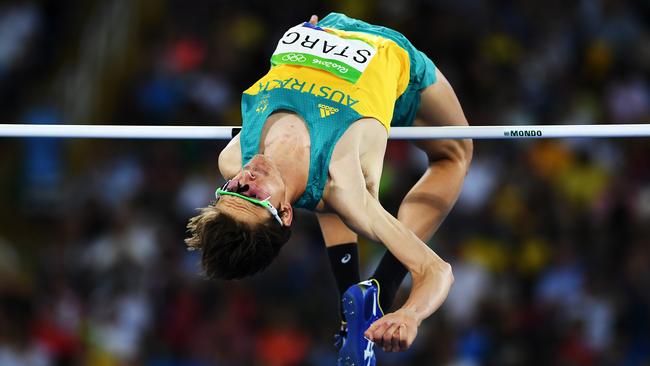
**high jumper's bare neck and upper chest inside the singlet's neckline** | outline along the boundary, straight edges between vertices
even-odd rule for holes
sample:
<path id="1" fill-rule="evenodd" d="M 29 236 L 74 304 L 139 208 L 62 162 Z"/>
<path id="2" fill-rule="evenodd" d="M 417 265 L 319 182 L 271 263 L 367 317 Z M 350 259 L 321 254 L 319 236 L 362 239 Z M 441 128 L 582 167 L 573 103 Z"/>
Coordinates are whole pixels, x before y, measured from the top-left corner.
<path id="1" fill-rule="evenodd" d="M 296 114 L 274 113 L 264 126 L 260 148 L 260 153 L 280 171 L 286 185 L 286 200 L 296 202 L 305 192 L 309 176 L 307 126 Z"/>

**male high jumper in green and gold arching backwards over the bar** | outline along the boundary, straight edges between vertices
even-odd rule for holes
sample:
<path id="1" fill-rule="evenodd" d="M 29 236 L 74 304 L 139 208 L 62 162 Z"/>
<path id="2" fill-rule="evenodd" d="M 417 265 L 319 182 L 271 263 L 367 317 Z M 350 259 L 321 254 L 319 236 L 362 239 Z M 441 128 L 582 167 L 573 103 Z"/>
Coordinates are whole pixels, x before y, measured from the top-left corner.
<path id="1" fill-rule="evenodd" d="M 429 166 L 397 217 L 378 200 L 391 126 L 466 126 L 449 82 L 402 34 L 342 14 L 290 28 L 271 69 L 242 95 L 242 130 L 219 155 L 227 180 L 190 219 L 210 278 L 266 268 L 289 239 L 295 207 L 317 212 L 339 288 L 340 365 L 374 365 L 374 345 L 404 351 L 444 302 L 449 263 L 427 242 L 461 190 L 471 140 L 417 143 Z M 357 235 L 386 246 L 361 282 Z M 391 309 L 407 272 L 406 302 Z M 382 310 L 383 309 L 383 310 Z"/>

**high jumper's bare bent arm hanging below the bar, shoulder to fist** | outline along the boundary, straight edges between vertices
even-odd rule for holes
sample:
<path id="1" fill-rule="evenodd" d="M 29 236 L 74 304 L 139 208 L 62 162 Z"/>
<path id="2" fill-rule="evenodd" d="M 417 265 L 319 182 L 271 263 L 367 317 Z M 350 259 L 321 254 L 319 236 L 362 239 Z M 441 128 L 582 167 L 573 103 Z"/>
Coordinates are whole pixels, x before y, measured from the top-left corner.
<path id="1" fill-rule="evenodd" d="M 371 122 L 374 123 L 372 126 L 383 129 L 377 121 Z M 381 140 L 368 138 L 367 131 L 378 131 L 374 128 L 357 133 L 363 129 L 362 123 L 359 121 L 351 126 L 334 149 L 330 180 L 323 200 L 325 208 L 336 212 L 354 231 L 383 243 L 411 273 L 413 287 L 407 302 L 373 325 L 376 331 L 381 331 L 384 341 L 394 342 L 393 350 L 405 350 L 415 339 L 421 321 L 438 309 L 447 297 L 453 276 L 451 266 L 386 212 L 368 190 L 366 175 L 373 169 L 362 167 L 360 149 L 370 145 L 369 140 L 375 144 Z M 385 143 L 385 130 L 383 133 Z M 374 334 L 366 332 L 366 335 L 377 340 Z"/>

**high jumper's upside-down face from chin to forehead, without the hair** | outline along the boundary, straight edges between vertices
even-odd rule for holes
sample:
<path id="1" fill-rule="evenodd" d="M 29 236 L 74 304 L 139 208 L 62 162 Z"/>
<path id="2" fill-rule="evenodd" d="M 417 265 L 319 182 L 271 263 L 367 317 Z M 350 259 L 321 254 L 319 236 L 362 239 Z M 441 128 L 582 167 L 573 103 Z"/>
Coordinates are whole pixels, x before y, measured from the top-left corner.
<path id="1" fill-rule="evenodd" d="M 291 216 L 291 210 L 289 209 L 289 215 L 285 212 L 288 207 L 285 202 L 286 186 L 278 169 L 264 155 L 255 155 L 229 181 L 225 190 L 259 200 L 268 199 L 278 210 L 283 224 L 291 224 L 291 218 L 287 217 Z M 240 197 L 224 195 L 219 198 L 217 206 L 222 212 L 251 225 L 261 224 L 269 219 L 275 221 L 266 208 Z"/>

